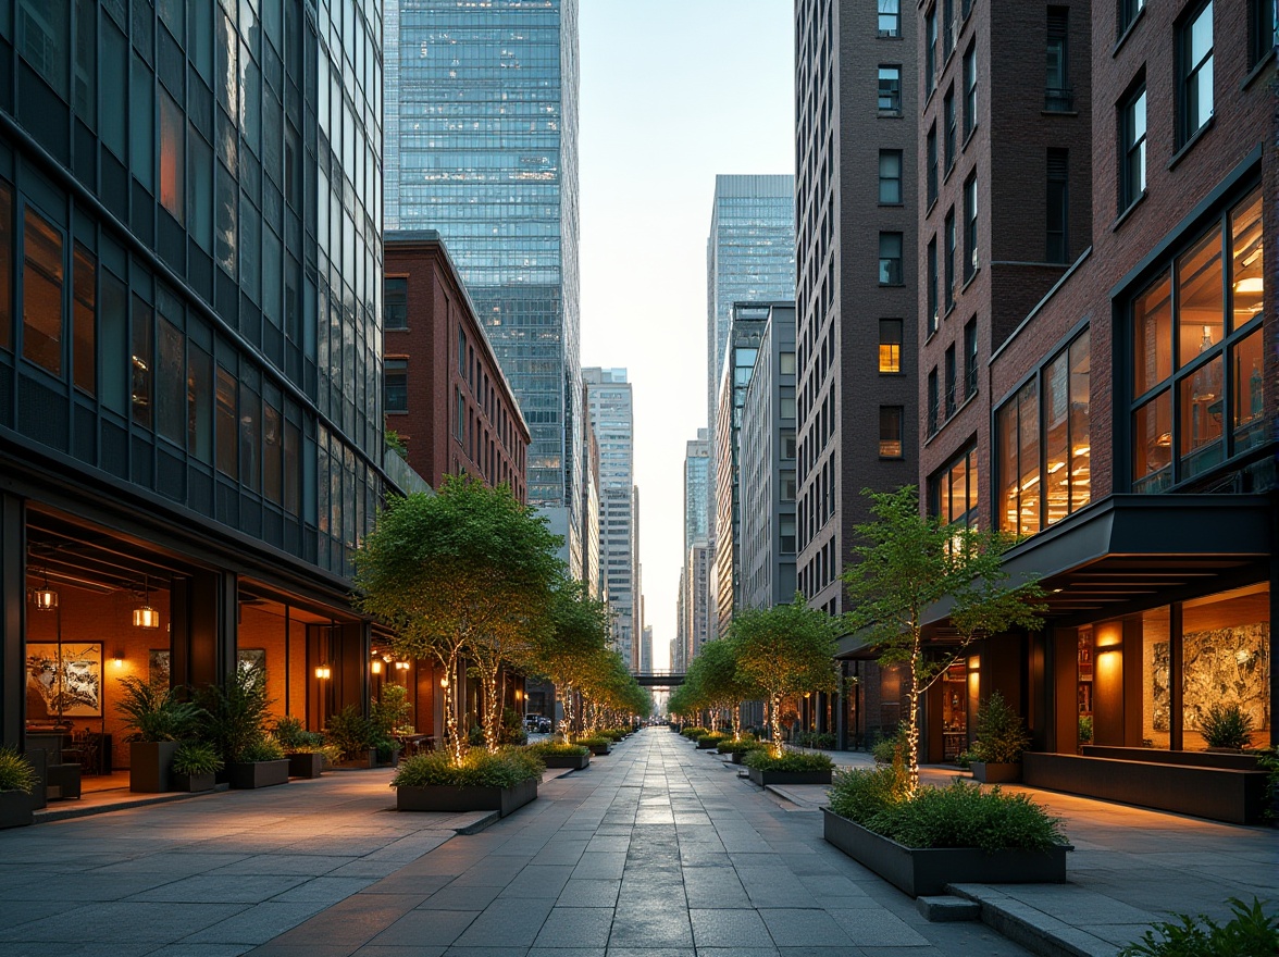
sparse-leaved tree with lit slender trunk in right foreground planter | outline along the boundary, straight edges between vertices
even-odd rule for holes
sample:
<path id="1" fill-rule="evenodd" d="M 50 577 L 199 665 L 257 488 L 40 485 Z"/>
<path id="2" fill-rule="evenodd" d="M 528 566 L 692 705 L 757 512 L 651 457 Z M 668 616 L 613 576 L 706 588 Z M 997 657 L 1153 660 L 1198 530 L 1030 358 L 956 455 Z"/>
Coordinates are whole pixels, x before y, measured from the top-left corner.
<path id="1" fill-rule="evenodd" d="M 998 531 L 944 526 L 920 514 L 914 486 L 862 491 L 875 521 L 858 525 L 857 563 L 843 580 L 852 610 L 851 631 L 881 649 L 880 664 L 906 667 L 906 759 L 909 788 L 920 786 L 920 700 L 973 640 L 1009 628 L 1037 629 L 1042 589 L 1031 580 L 1009 586 L 1001 555 L 1013 540 Z M 923 615 L 939 601 L 952 603 L 955 644 L 926 655 Z"/>

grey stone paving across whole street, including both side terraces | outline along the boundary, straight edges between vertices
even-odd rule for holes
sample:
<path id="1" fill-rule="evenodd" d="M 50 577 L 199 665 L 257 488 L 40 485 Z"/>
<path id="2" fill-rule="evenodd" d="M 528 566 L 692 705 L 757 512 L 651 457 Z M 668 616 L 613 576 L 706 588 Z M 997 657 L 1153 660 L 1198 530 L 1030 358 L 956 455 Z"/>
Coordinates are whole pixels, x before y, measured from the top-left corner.
<path id="1" fill-rule="evenodd" d="M 927 922 L 826 844 L 822 789 L 761 792 L 664 728 L 558 774 L 478 833 L 483 814 L 394 811 L 389 770 L 0 832 L 0 954 L 1027 953 L 984 924 Z M 1072 883 L 973 890 L 1077 953 L 1113 954 L 1166 910 L 1279 899 L 1273 829 L 1040 797 L 1067 816 Z"/>

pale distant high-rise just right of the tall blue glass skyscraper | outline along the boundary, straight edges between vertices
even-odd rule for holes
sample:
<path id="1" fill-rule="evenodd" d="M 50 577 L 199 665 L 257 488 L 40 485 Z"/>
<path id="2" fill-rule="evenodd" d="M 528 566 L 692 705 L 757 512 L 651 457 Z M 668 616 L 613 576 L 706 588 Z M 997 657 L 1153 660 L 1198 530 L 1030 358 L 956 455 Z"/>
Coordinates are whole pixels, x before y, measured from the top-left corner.
<path id="1" fill-rule="evenodd" d="M 600 567 L 613 610 L 614 647 L 628 667 L 636 631 L 634 406 L 624 368 L 582 370 L 586 408 L 600 447 Z"/>

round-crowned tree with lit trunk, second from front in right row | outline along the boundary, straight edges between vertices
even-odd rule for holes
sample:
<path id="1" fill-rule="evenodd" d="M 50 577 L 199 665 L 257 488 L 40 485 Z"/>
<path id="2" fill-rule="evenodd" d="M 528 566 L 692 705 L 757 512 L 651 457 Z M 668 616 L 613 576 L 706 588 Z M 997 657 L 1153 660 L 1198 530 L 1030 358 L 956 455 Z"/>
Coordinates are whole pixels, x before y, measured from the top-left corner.
<path id="1" fill-rule="evenodd" d="M 789 605 L 747 609 L 733 618 L 729 637 L 737 649 L 738 672 L 769 702 L 775 754 L 781 751 L 781 699 L 838 687 L 834 658 L 839 631 L 838 618 L 808 608 L 799 594 Z"/>

